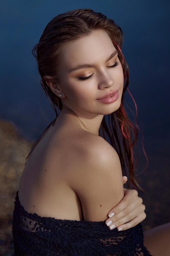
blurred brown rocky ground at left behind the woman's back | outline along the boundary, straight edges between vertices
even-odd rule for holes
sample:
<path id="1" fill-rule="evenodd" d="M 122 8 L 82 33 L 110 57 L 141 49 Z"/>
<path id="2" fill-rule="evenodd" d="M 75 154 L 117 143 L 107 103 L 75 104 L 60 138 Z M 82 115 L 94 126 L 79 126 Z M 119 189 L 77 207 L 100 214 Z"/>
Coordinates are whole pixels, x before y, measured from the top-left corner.
<path id="1" fill-rule="evenodd" d="M 14 124 L 0 120 L 0 255 L 13 255 L 13 202 L 32 144 L 18 135 Z"/>

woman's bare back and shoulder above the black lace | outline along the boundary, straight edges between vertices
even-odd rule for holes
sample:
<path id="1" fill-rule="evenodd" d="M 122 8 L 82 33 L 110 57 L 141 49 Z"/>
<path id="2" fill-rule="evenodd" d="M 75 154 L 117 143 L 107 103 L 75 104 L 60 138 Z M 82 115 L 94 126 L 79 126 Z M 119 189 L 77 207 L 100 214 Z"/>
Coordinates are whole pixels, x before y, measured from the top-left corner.
<path id="1" fill-rule="evenodd" d="M 117 153 L 72 116 L 51 126 L 35 146 L 19 188 L 26 211 L 56 219 L 105 220 L 123 196 Z"/>

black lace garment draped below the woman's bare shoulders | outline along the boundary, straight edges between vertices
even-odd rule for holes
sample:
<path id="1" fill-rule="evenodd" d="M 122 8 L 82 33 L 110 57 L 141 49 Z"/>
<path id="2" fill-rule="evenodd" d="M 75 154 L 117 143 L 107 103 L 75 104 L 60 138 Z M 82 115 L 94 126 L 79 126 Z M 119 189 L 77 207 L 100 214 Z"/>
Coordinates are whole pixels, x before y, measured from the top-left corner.
<path id="1" fill-rule="evenodd" d="M 31 214 L 18 193 L 13 212 L 15 256 L 146 256 L 141 225 L 109 230 L 105 222 L 56 220 Z"/>

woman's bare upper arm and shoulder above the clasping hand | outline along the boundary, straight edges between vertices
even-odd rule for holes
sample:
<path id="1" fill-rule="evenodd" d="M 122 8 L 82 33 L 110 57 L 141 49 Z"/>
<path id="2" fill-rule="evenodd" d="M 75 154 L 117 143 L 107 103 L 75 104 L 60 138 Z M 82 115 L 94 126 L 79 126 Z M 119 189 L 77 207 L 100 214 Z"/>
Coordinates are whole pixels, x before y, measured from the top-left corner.
<path id="1" fill-rule="evenodd" d="M 79 196 L 84 220 L 104 221 L 124 196 L 122 172 L 116 151 L 99 139 L 79 159 L 73 189 Z"/>

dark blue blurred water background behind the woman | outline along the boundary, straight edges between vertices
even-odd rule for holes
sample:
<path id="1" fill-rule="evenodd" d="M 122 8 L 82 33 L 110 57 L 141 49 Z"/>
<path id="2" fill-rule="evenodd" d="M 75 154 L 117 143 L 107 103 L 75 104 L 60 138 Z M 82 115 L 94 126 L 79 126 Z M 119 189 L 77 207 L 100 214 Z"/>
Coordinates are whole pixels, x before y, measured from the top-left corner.
<path id="1" fill-rule="evenodd" d="M 138 106 L 149 158 L 146 172 L 150 176 L 141 179 L 143 186 L 159 179 L 161 194 L 170 186 L 169 0 L 1 0 L 0 118 L 13 121 L 20 134 L 31 140 L 53 119 L 31 50 L 54 16 L 77 8 L 104 13 L 124 32 L 129 88 Z M 128 97 L 127 101 L 131 104 Z M 143 168 L 142 162 L 140 166 Z"/>

